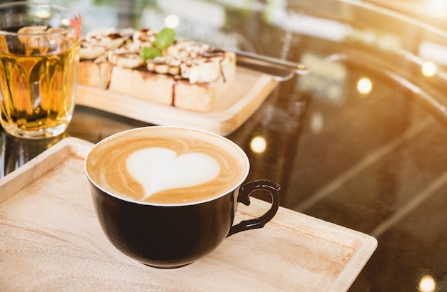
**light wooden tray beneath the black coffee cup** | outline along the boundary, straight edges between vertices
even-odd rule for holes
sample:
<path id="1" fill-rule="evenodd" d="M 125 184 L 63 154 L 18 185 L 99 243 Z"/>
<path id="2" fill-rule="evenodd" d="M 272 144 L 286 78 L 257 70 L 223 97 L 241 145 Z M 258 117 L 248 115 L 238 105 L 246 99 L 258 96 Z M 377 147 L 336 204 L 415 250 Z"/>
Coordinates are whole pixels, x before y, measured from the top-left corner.
<path id="1" fill-rule="evenodd" d="M 280 207 L 195 263 L 144 266 L 117 251 L 94 213 L 84 157 L 69 137 L 0 179 L 3 291 L 346 291 L 376 249 L 371 236 Z M 266 202 L 239 205 L 236 221 Z"/>

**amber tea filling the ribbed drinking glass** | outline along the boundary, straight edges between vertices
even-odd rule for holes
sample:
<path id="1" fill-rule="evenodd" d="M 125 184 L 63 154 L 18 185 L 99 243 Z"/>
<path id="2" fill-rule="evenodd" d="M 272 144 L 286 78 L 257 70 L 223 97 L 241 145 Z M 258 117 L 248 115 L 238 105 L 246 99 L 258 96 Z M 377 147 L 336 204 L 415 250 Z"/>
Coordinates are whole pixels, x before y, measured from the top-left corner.
<path id="1" fill-rule="evenodd" d="M 64 132 L 74 107 L 78 46 L 48 56 L 0 53 L 2 125 L 16 135 Z"/>

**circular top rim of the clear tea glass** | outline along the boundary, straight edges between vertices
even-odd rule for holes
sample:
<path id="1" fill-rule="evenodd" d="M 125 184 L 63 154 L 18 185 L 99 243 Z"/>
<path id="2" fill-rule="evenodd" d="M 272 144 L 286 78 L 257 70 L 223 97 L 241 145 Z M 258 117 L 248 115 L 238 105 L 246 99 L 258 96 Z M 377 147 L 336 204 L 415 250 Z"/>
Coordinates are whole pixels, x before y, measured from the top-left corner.
<path id="1" fill-rule="evenodd" d="M 60 5 L 60 4 L 54 4 L 54 3 L 42 3 L 42 2 L 29 2 L 29 1 L 11 1 L 11 2 L 7 2 L 4 4 L 0 4 L 0 9 L 4 9 L 4 8 L 13 8 L 13 7 L 18 7 L 18 6 L 34 6 L 34 7 L 46 7 L 48 9 L 50 8 L 55 8 L 55 9 L 59 9 L 60 11 L 64 11 L 64 12 L 69 12 L 71 14 L 73 14 L 73 18 L 69 19 L 70 24 L 67 27 L 61 27 L 61 31 L 52 31 L 52 32 L 43 32 L 43 33 L 17 33 L 17 32 L 11 32 L 11 31 L 5 31 L 4 29 L 0 28 L 0 35 L 7 35 L 7 36 L 29 36 L 29 37 L 38 37 L 38 36 L 51 36 L 51 35 L 58 35 L 61 32 L 64 31 L 71 31 L 74 29 L 81 29 L 81 14 L 79 14 L 79 12 L 64 6 L 64 5 Z M 74 21 L 72 21 L 74 20 Z"/>

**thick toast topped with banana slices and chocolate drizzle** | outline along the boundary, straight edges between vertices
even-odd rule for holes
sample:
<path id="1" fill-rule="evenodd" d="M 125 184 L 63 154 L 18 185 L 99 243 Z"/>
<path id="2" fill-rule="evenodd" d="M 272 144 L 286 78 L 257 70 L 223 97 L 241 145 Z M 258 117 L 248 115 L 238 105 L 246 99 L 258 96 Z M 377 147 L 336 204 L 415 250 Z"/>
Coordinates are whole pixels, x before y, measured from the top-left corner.
<path id="1" fill-rule="evenodd" d="M 81 85 L 206 113 L 214 109 L 236 75 L 233 52 L 179 39 L 166 47 L 162 56 L 144 61 L 140 55 L 142 48 L 153 45 L 156 31 L 136 31 L 132 38 L 129 31 L 104 35 L 104 30 L 100 30 L 98 33 L 99 36 L 91 34 L 94 44 L 115 43 L 118 37 L 124 41 L 101 55 L 101 58 L 106 56 L 106 63 L 96 56 L 94 61 L 81 58 Z M 92 50 L 91 46 L 96 45 L 91 45 L 91 41 L 85 44 L 90 55 L 100 51 Z"/>

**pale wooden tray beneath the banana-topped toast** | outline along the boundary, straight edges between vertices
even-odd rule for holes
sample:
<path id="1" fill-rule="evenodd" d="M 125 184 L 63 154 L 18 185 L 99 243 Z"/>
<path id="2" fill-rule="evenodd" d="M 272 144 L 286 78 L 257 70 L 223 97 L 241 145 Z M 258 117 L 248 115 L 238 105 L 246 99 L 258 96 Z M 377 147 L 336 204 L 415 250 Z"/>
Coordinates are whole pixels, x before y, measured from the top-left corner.
<path id="1" fill-rule="evenodd" d="M 182 110 L 82 85 L 77 86 L 76 104 L 154 125 L 195 127 L 229 135 L 259 108 L 277 84 L 269 75 L 238 67 L 234 82 L 210 113 Z"/>

